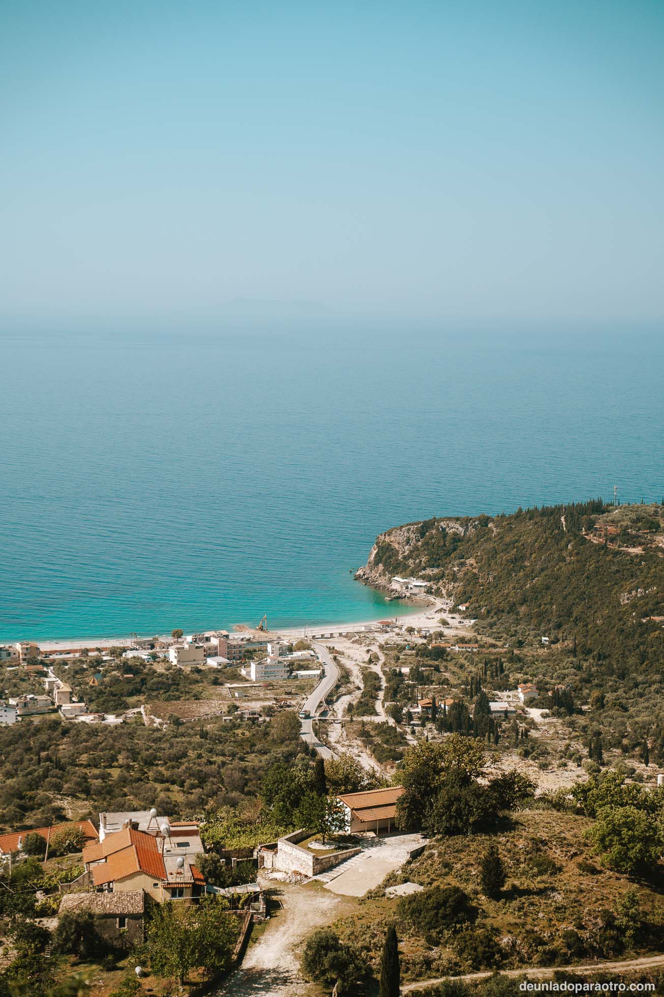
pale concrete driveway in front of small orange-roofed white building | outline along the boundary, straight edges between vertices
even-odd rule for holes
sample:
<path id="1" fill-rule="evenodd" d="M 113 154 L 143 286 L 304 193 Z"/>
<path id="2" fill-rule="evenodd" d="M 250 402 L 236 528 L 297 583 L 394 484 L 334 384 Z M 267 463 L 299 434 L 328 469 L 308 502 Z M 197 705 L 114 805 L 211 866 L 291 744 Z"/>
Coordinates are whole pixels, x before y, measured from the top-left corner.
<path id="1" fill-rule="evenodd" d="M 344 896 L 363 896 L 379 886 L 389 872 L 400 868 L 427 842 L 421 834 L 389 834 L 367 837 L 362 850 L 327 872 L 315 876 L 326 883 L 326 889 Z"/>

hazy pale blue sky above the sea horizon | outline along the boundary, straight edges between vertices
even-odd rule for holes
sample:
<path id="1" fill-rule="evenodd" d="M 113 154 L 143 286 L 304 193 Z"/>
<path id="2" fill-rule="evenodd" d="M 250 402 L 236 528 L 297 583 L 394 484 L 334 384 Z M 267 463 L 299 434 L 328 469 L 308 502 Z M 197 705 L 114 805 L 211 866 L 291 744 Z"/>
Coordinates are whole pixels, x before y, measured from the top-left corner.
<path id="1" fill-rule="evenodd" d="M 0 320 L 662 318 L 663 48 L 662 0 L 3 0 Z"/>

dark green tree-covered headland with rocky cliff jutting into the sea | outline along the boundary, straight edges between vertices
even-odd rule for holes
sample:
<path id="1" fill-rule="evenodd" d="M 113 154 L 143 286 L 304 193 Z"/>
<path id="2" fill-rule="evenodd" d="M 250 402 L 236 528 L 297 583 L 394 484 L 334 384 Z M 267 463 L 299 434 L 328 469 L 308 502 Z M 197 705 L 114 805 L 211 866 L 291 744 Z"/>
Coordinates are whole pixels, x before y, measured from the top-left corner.
<path id="1" fill-rule="evenodd" d="M 382 533 L 358 577 L 425 578 L 479 632 L 546 635 L 616 674 L 664 664 L 664 506 L 600 500 L 431 518 Z"/>

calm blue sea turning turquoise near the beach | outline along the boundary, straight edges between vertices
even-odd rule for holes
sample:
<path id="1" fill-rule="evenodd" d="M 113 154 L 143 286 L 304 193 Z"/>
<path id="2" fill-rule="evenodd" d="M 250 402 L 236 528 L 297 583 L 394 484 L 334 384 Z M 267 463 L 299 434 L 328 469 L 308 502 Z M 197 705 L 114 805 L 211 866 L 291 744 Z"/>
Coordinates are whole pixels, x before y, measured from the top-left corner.
<path id="1" fill-rule="evenodd" d="M 0 639 L 378 617 L 388 526 L 661 499 L 663 337 L 532 332 L 6 333 Z"/>

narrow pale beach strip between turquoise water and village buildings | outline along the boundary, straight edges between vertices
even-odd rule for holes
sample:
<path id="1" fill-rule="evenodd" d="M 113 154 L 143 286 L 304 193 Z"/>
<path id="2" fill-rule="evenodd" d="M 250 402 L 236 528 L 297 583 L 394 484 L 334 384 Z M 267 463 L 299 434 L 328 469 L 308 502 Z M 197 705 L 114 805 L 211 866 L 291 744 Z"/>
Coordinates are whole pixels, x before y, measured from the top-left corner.
<path id="1" fill-rule="evenodd" d="M 404 599 L 403 601 L 405 602 L 406 600 Z M 445 608 L 442 605 L 442 600 L 434 598 L 433 596 L 422 596 L 422 597 L 420 597 L 418 599 L 413 599 L 412 602 L 411 602 L 411 605 L 412 605 L 412 608 L 411 609 L 406 609 L 405 612 L 391 613 L 391 614 L 389 612 L 383 612 L 380 616 L 375 616 L 375 617 L 373 617 L 371 619 L 354 620 L 353 622 L 344 622 L 344 621 L 341 621 L 339 623 L 335 623 L 335 622 L 331 622 L 331 623 L 305 623 L 305 624 L 301 624 L 299 626 L 275 627 L 274 629 L 271 627 L 269 630 L 266 630 L 265 633 L 267 633 L 267 634 L 275 634 L 275 635 L 279 635 L 281 637 L 299 638 L 299 637 L 306 637 L 308 634 L 311 635 L 311 634 L 314 634 L 314 633 L 318 634 L 318 633 L 322 633 L 322 632 L 329 633 L 331 631 L 334 631 L 335 633 L 336 632 L 340 632 L 340 631 L 343 631 L 343 632 L 346 632 L 346 633 L 349 633 L 349 632 L 352 632 L 352 631 L 360 631 L 361 632 L 361 630 L 363 628 L 370 627 L 372 624 L 377 623 L 379 619 L 399 619 L 400 617 L 402 617 L 404 619 L 410 618 L 410 617 L 420 619 L 420 617 L 422 617 L 422 618 L 425 617 L 426 612 L 429 612 L 429 613 L 431 613 L 431 612 L 433 612 L 433 613 L 444 613 L 445 612 Z M 403 606 L 400 605 L 399 608 L 403 608 Z M 387 609 L 389 609 L 389 607 L 387 607 Z M 429 621 L 429 617 L 427 617 L 427 620 Z M 234 626 L 235 627 L 238 627 L 238 626 L 242 627 L 242 626 L 244 626 L 244 624 L 234 624 Z M 215 628 L 210 627 L 210 628 L 208 628 L 206 630 L 199 630 L 197 632 L 199 632 L 199 633 L 205 633 L 205 634 L 210 634 L 210 633 L 213 633 L 215 630 L 225 630 L 225 629 L 227 629 L 227 628 L 226 627 L 215 627 Z M 229 630 L 229 632 L 230 633 L 241 633 L 241 632 L 252 633 L 252 632 L 256 632 L 256 631 L 255 631 L 254 627 L 247 627 L 246 631 L 242 631 L 241 629 L 240 630 L 233 630 L 232 629 L 232 630 Z M 144 640 L 146 636 L 147 635 L 138 635 L 138 638 Z M 169 638 L 170 639 L 170 633 L 167 633 L 167 634 L 150 634 L 149 636 L 156 636 L 156 637 L 159 637 L 159 638 Z M 33 638 L 31 638 L 31 637 L 23 637 L 21 639 L 22 640 L 32 640 Z M 2 642 L 0 641 L 0 643 L 2 643 Z M 7 643 L 15 643 L 15 642 L 14 641 L 7 641 Z M 55 640 L 39 640 L 39 639 L 37 639 L 37 640 L 35 640 L 35 643 L 38 644 L 39 647 L 40 647 L 40 650 L 44 651 L 45 653 L 52 653 L 53 651 L 62 651 L 62 650 L 65 650 L 65 649 L 74 650 L 74 649 L 79 649 L 79 648 L 84 648 L 84 647 L 87 647 L 87 648 L 89 648 L 91 650 L 94 649 L 94 648 L 98 648 L 98 647 L 102 648 L 102 649 L 109 648 L 109 647 L 125 647 L 125 646 L 129 647 L 133 643 L 133 640 L 132 640 L 132 638 L 131 638 L 130 635 L 124 635 L 124 636 L 121 636 L 121 637 L 119 637 L 119 636 L 115 636 L 115 637 L 112 637 L 112 636 L 108 636 L 108 637 L 72 637 L 72 638 L 60 637 L 60 638 L 55 639 Z"/>

